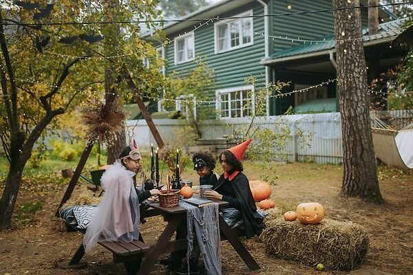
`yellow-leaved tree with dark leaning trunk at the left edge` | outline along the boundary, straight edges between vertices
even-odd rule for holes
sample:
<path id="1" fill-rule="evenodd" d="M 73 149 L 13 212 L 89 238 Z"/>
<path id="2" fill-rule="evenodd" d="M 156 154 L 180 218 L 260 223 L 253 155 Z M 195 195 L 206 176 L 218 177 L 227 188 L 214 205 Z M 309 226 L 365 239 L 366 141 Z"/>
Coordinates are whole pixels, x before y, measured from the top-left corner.
<path id="1" fill-rule="evenodd" d="M 103 28 L 106 24 L 73 22 L 101 21 L 113 12 L 120 14 L 118 20 L 123 22 L 136 18 L 150 21 L 161 14 L 156 10 L 157 4 L 158 1 L 125 0 L 117 10 L 110 10 L 107 1 L 3 1 L 0 137 L 10 166 L 0 199 L 0 229 L 11 226 L 21 176 L 35 142 L 45 129 L 56 128 L 57 116 L 86 97 L 102 96 L 106 65 L 114 67 L 114 79 L 120 79 L 121 68 L 127 68 L 138 85 L 147 87 L 150 83 L 153 91 L 157 80 L 162 79 L 158 67 L 147 69 L 142 65 L 144 56 L 156 58 L 156 50 L 138 36 L 138 25 L 119 24 L 124 30 L 119 34 L 120 43 L 112 45 L 114 56 L 108 57 L 102 52 L 105 45 L 111 45 L 110 34 Z M 126 98 L 133 96 L 124 81 L 116 85 Z"/>

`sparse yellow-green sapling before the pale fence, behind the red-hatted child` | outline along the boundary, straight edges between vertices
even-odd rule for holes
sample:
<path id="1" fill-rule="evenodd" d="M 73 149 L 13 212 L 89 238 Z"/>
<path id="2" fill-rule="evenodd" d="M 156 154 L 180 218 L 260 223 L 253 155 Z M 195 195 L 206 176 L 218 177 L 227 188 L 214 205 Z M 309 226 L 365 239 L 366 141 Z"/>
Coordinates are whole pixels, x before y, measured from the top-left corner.
<path id="1" fill-rule="evenodd" d="M 275 119 L 266 116 L 267 95 L 282 95 L 282 89 L 287 87 L 289 83 L 277 81 L 277 83 L 269 83 L 268 88 L 258 89 L 255 76 L 246 78 L 245 83 L 255 87 L 255 92 L 248 92 L 248 98 L 253 98 L 254 100 L 246 100 L 243 104 L 243 113 L 248 113 L 244 124 L 227 125 L 232 132 L 227 137 L 227 140 L 233 143 L 240 143 L 252 138 L 254 142 L 248 146 L 246 157 L 251 160 L 263 161 L 264 166 L 262 166 L 262 170 L 266 172 L 260 175 L 260 177 L 274 184 L 276 178 L 269 179 L 267 173 L 268 169 L 275 169 L 272 162 L 275 159 L 287 159 L 288 155 L 285 152 L 285 148 L 290 142 L 295 142 L 301 148 L 310 146 L 311 135 L 304 133 L 299 128 L 298 122 L 288 120 L 288 115 L 293 114 L 292 107 L 284 113 L 284 116 L 279 116 Z"/>

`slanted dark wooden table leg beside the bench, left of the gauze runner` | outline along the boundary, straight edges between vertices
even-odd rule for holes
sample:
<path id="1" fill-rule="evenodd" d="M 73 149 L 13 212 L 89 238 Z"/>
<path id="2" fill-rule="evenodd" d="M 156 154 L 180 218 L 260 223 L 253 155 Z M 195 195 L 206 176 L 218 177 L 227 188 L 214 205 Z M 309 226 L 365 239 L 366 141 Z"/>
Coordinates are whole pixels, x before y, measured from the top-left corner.
<path id="1" fill-rule="evenodd" d="M 163 230 L 158 241 L 155 245 L 147 252 L 146 258 L 143 261 L 137 275 L 147 275 L 153 269 L 153 266 L 158 261 L 160 255 L 165 252 L 165 248 L 171 240 L 173 233 L 178 229 L 179 224 L 182 222 L 186 213 L 174 214 L 173 218 L 169 221 L 168 225 Z"/>

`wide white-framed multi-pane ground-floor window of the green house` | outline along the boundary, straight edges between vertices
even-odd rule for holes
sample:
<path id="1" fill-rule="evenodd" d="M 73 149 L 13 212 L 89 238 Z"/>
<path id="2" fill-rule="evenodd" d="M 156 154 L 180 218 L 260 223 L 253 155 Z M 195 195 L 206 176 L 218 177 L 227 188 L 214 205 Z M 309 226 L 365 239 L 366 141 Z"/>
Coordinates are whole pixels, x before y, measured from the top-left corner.
<path id="1" fill-rule="evenodd" d="M 216 92 L 220 118 L 245 118 L 254 113 L 253 85 L 219 89 Z"/>

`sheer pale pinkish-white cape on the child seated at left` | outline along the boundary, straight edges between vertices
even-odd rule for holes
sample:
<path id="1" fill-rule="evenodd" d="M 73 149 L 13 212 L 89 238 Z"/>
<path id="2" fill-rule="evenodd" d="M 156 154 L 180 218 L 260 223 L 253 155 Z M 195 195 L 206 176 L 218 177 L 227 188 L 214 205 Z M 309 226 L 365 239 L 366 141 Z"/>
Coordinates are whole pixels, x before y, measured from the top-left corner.
<path id="1" fill-rule="evenodd" d="M 100 182 L 105 192 L 83 238 L 86 253 L 92 252 L 98 241 L 127 243 L 138 239 L 140 215 L 134 175 L 120 159 L 103 173 Z"/>

